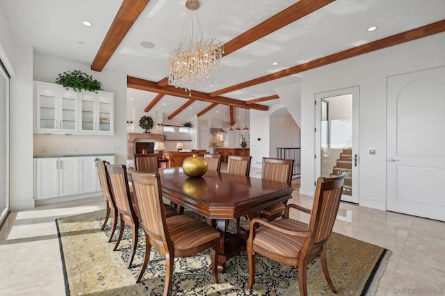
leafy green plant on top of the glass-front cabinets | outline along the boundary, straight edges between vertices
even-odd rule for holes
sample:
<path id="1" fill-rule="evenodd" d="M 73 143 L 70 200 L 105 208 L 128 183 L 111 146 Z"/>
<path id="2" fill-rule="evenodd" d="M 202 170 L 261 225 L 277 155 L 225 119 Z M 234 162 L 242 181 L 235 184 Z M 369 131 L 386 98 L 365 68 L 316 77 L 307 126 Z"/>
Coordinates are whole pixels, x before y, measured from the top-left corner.
<path id="1" fill-rule="evenodd" d="M 102 83 L 92 79 L 91 75 L 79 70 L 63 72 L 58 74 L 56 83 L 63 85 L 64 88 L 72 88 L 75 92 L 86 90 L 89 92 L 98 92 L 102 90 Z"/>

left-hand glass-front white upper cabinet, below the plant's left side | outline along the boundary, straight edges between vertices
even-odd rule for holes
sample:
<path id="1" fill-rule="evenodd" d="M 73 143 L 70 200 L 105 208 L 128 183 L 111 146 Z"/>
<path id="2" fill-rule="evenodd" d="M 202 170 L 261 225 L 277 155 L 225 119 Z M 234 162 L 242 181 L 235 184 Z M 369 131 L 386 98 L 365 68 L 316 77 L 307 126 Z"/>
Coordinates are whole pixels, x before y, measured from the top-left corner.
<path id="1" fill-rule="evenodd" d="M 61 85 L 34 83 L 35 132 L 76 133 L 79 130 L 79 104 L 76 92 Z"/>

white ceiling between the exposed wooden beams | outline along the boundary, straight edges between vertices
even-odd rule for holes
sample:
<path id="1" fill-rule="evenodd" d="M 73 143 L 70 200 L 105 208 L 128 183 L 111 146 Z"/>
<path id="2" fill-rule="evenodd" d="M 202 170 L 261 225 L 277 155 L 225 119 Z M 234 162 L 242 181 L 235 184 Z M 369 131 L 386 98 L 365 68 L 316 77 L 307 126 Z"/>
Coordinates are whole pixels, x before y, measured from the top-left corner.
<path id="1" fill-rule="evenodd" d="M 40 54 L 91 65 L 121 0 L 1 0 L 16 42 L 30 44 Z M 227 42 L 291 6 L 282 0 L 200 0 L 197 10 L 205 37 Z M 151 0 L 104 69 L 150 81 L 168 76 L 168 56 L 181 40 L 184 0 Z M 225 56 L 213 92 L 282 69 L 306 63 L 361 44 L 445 19 L 444 0 L 337 0 L 297 22 Z M 88 20 L 93 26 L 83 26 Z M 378 29 L 368 32 L 367 28 Z M 140 46 L 152 42 L 153 49 Z M 79 42 L 83 42 L 80 44 Z M 273 62 L 279 63 L 272 65 Z M 94 74 L 93 74 L 94 76 Z M 255 85 L 223 97 L 250 100 L 275 94 L 274 89 L 299 82 L 298 74 Z M 129 89 L 129 107 L 145 108 L 156 93 Z M 156 105 L 170 115 L 186 99 L 164 96 Z M 165 104 L 165 106 L 164 106 Z M 280 99 L 260 104 L 280 104 Z M 195 101 L 178 116 L 190 118 L 210 103 Z M 218 111 L 218 113 L 216 113 Z M 241 112 L 241 117 L 243 116 Z M 203 115 L 224 117 L 229 107 L 218 105 Z"/>

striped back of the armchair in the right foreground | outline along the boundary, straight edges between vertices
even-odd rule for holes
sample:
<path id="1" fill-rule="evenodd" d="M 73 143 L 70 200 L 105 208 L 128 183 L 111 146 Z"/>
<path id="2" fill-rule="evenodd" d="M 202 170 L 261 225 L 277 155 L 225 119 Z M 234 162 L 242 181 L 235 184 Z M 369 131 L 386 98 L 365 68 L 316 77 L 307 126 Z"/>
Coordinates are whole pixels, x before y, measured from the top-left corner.
<path id="1" fill-rule="evenodd" d="M 346 173 L 343 173 L 346 176 Z M 339 211 L 344 177 L 318 178 L 309 230 L 312 231 L 312 243 L 324 243 L 329 238 L 335 218 Z"/>

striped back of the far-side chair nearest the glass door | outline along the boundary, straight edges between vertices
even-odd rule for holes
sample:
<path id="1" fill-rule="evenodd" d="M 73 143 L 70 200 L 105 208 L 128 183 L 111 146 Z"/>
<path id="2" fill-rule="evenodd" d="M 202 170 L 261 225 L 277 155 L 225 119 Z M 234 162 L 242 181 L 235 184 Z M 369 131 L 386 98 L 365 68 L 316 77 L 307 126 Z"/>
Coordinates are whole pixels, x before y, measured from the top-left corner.
<path id="1" fill-rule="evenodd" d="M 263 158 L 261 179 L 291 183 L 293 159 Z"/>

